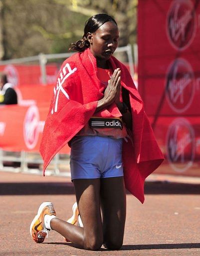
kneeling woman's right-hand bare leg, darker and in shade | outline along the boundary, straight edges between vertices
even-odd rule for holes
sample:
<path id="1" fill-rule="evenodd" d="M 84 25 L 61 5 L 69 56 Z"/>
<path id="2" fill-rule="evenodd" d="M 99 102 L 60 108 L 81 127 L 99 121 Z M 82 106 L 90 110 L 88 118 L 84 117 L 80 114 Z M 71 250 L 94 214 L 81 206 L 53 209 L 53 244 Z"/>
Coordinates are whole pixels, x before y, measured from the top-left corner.
<path id="1" fill-rule="evenodd" d="M 101 205 L 104 245 L 109 249 L 120 249 L 126 220 L 124 177 L 101 179 Z"/>

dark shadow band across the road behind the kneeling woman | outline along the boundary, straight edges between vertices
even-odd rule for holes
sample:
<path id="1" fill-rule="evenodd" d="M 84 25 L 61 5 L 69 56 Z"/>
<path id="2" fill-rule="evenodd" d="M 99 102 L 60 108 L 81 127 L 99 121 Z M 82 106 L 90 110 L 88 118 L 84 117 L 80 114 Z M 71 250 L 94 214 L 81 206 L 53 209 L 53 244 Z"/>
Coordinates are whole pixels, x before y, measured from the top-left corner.
<path id="1" fill-rule="evenodd" d="M 0 183 L 0 195 L 9 194 L 74 194 L 74 188 L 71 182 Z M 200 194 L 200 184 L 146 182 L 145 194 Z"/>

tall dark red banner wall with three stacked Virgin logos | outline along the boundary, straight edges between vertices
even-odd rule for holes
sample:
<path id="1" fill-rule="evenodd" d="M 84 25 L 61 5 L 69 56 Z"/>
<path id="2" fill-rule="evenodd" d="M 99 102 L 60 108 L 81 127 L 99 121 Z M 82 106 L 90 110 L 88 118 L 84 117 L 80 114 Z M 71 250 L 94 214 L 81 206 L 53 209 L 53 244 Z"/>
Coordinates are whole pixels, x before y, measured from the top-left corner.
<path id="1" fill-rule="evenodd" d="M 165 173 L 200 175 L 200 1 L 141 0 L 139 91 Z"/>

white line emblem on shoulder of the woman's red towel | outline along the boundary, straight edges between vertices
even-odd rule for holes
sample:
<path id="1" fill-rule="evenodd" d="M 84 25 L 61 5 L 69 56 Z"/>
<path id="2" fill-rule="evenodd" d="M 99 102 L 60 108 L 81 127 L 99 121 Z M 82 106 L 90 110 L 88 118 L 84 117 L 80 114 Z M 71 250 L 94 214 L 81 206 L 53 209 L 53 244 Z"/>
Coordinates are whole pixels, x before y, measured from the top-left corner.
<path id="1" fill-rule="evenodd" d="M 68 93 L 65 91 L 65 89 L 62 87 L 62 84 L 64 81 L 69 77 L 71 74 L 73 74 L 77 70 L 76 67 L 71 69 L 69 63 L 66 63 L 65 66 L 61 69 L 60 75 L 57 79 L 56 85 L 53 88 L 54 92 L 54 99 L 53 99 L 53 107 L 51 109 L 51 113 L 57 112 L 58 109 L 58 100 L 59 100 L 59 93 L 60 91 L 65 95 L 66 98 L 69 99 Z"/>

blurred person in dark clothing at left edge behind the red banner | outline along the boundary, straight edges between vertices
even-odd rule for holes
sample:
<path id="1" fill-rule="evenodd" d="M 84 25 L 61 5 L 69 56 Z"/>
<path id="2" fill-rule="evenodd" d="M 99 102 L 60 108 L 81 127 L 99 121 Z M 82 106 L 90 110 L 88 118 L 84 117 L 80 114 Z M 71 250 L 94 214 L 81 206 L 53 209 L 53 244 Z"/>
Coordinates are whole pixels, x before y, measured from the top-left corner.
<path id="1" fill-rule="evenodd" d="M 8 82 L 7 75 L 0 73 L 0 104 L 17 104 L 17 94 L 13 85 Z"/>

